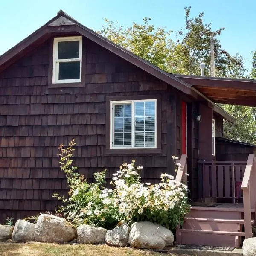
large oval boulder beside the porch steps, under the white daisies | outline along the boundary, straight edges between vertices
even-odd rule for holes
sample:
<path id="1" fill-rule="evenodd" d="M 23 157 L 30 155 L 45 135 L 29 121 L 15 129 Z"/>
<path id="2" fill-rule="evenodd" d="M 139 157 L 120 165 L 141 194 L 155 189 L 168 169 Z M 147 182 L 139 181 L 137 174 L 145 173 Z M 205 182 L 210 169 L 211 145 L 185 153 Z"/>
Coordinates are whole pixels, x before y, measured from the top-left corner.
<path id="1" fill-rule="evenodd" d="M 129 234 L 129 244 L 134 248 L 163 249 L 173 244 L 171 230 L 158 224 L 141 221 L 134 222 Z"/>

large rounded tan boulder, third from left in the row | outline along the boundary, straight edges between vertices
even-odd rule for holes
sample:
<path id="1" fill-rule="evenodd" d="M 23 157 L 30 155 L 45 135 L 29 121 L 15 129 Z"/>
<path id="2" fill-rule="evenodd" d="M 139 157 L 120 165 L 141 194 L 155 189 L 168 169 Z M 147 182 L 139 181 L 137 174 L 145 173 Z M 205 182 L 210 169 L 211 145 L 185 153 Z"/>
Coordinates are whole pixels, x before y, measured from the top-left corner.
<path id="1" fill-rule="evenodd" d="M 65 219 L 41 214 L 35 225 L 35 241 L 46 243 L 67 243 L 76 236 L 76 228 Z"/>

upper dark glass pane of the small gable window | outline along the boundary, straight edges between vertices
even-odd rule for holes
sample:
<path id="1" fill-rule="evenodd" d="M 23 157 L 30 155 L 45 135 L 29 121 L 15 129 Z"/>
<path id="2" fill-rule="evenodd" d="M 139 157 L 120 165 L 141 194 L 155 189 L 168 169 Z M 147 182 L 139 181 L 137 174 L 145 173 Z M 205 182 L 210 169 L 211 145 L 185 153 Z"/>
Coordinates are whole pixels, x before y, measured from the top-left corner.
<path id="1" fill-rule="evenodd" d="M 79 41 L 58 42 L 58 59 L 79 58 Z"/>

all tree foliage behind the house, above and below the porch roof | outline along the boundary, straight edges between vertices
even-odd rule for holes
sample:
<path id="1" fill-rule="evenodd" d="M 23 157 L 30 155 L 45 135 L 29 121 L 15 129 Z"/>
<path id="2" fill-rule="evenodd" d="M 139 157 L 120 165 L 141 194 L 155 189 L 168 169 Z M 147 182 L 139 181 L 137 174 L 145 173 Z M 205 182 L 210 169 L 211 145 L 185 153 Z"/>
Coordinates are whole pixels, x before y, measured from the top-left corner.
<path id="1" fill-rule="evenodd" d="M 213 30 L 212 23 L 204 23 L 204 13 L 190 17 L 191 7 L 185 7 L 185 26 L 176 32 L 155 28 L 151 18 L 143 24 L 133 23 L 124 28 L 106 20 L 99 33 L 116 44 L 133 52 L 170 73 L 200 75 L 200 63 L 206 64 L 205 75 L 210 75 L 210 38 L 214 41 L 215 76 L 256 79 L 256 51 L 253 52 L 253 69 L 250 76 L 244 67 L 244 58 L 231 55 L 222 48 L 219 35 L 224 27 Z M 248 143 L 256 143 L 255 108 L 221 104 L 236 119 L 236 125 L 224 122 L 225 137 Z"/>

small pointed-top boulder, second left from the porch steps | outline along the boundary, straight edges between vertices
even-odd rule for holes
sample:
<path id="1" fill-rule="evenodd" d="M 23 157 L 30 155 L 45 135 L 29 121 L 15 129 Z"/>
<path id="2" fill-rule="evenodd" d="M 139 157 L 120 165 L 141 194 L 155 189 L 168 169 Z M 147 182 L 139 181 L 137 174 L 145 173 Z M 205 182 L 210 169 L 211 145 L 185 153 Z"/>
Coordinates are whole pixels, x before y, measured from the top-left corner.
<path id="1" fill-rule="evenodd" d="M 130 231 L 128 224 L 120 222 L 113 230 L 108 230 L 105 241 L 108 245 L 125 247 L 128 245 Z"/>

